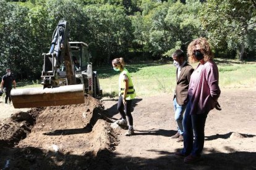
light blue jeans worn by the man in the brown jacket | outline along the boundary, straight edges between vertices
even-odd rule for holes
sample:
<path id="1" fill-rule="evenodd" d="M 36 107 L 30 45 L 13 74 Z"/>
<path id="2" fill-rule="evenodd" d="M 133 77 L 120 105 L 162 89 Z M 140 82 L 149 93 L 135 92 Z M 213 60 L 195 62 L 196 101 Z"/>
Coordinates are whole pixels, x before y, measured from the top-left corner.
<path id="1" fill-rule="evenodd" d="M 179 105 L 177 103 L 176 97 L 173 100 L 173 108 L 175 113 L 175 121 L 177 122 L 177 131 L 179 134 L 183 134 L 183 125 L 182 125 L 182 119 L 183 119 L 183 113 L 186 110 L 186 105 Z"/>

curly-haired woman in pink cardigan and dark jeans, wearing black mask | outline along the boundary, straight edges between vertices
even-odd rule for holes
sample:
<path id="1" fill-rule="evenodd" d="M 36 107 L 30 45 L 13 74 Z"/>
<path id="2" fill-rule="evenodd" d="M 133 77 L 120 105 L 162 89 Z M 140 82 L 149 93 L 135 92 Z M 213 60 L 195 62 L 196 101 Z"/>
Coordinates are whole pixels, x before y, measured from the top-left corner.
<path id="1" fill-rule="evenodd" d="M 200 160 L 203 150 L 205 121 L 209 111 L 213 108 L 221 110 L 217 102 L 221 91 L 218 86 L 218 67 L 213 62 L 213 53 L 207 39 L 198 38 L 190 42 L 187 54 L 190 63 L 199 63 L 190 77 L 189 103 L 183 119 L 184 148 L 174 156 L 184 158 L 185 163 L 194 163 Z"/>

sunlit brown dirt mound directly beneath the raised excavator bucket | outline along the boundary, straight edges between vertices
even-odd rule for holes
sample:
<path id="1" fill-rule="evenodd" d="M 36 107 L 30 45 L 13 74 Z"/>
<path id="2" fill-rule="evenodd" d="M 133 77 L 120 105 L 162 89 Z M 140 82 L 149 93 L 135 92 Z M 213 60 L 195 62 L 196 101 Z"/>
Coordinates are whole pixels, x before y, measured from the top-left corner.
<path id="1" fill-rule="evenodd" d="M 92 127 L 96 123 L 99 116 L 97 114 L 101 110 L 103 110 L 103 106 L 100 101 L 90 96 L 85 98 L 83 104 L 46 107 L 36 119 L 36 125 L 32 131 L 49 131 L 50 134 L 59 132 L 64 134 L 75 133 L 71 129 Z M 69 131 L 65 131 L 65 129 L 69 129 Z"/>

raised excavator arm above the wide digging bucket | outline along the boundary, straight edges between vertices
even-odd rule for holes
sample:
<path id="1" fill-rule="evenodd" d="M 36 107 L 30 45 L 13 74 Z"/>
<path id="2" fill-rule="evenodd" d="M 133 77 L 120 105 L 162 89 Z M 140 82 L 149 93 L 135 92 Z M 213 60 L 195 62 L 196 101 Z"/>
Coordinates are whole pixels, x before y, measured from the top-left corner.
<path id="1" fill-rule="evenodd" d="M 58 82 L 58 70 L 64 62 L 66 65 L 67 84 L 75 84 L 74 65 L 68 42 L 68 24 L 66 21 L 61 21 L 54 30 L 51 42 L 51 49 L 44 55 L 44 65 L 41 78 L 43 78 L 43 87 L 61 86 Z M 61 81 L 61 80 L 60 80 Z"/>

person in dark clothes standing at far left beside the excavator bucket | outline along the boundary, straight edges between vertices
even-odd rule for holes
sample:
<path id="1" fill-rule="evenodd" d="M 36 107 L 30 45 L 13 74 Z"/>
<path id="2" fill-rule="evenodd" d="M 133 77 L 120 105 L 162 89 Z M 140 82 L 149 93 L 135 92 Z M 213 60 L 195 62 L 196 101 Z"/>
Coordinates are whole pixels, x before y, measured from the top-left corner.
<path id="1" fill-rule="evenodd" d="M 2 76 L 2 82 L 1 82 L 1 89 L 6 93 L 6 100 L 5 103 L 7 104 L 7 101 L 9 99 L 9 103 L 11 103 L 11 90 L 12 90 L 12 84 L 14 84 L 14 89 L 16 88 L 16 81 L 13 75 L 11 75 L 11 69 L 6 69 L 6 75 Z"/>

